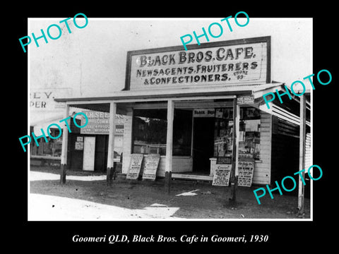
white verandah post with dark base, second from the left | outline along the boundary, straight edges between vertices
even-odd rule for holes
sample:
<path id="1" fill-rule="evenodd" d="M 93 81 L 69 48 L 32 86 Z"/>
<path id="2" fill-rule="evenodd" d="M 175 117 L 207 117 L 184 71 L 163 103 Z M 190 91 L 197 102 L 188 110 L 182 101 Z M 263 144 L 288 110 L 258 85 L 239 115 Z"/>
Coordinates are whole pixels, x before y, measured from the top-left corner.
<path id="1" fill-rule="evenodd" d="M 109 133 L 108 133 L 108 151 L 107 151 L 107 186 L 112 186 L 114 175 L 114 134 L 115 134 L 115 115 L 117 113 L 117 103 L 109 103 Z"/>

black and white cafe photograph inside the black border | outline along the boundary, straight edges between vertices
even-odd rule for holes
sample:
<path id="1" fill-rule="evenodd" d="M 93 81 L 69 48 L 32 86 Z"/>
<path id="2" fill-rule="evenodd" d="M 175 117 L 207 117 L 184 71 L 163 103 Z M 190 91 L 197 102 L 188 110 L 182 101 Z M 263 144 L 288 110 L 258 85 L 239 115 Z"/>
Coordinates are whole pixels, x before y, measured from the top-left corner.
<path id="1" fill-rule="evenodd" d="M 29 19 L 28 219 L 311 219 L 312 20 L 236 17 Z"/>

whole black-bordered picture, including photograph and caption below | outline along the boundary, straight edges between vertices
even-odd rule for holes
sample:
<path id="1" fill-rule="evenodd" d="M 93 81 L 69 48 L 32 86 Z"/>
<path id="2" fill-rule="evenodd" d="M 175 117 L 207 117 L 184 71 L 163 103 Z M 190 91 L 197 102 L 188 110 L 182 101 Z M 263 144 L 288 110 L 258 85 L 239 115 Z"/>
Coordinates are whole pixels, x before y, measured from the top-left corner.
<path id="1" fill-rule="evenodd" d="M 333 17 L 186 5 L 20 11 L 11 230 L 28 249 L 333 243 Z"/>

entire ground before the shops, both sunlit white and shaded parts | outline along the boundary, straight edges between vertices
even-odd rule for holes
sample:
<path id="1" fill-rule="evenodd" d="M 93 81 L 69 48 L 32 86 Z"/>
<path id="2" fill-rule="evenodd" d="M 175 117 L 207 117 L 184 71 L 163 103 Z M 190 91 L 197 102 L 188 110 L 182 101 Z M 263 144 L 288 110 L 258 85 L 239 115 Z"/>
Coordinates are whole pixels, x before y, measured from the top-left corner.
<path id="1" fill-rule="evenodd" d="M 230 187 L 194 181 L 172 181 L 170 193 L 164 182 L 116 179 L 107 186 L 105 174 L 68 171 L 66 184 L 59 170 L 31 167 L 29 220 L 182 220 L 182 219 L 309 219 L 297 213 L 297 196 L 269 195 L 258 205 L 253 190 L 238 187 L 237 205 L 230 205 Z"/>

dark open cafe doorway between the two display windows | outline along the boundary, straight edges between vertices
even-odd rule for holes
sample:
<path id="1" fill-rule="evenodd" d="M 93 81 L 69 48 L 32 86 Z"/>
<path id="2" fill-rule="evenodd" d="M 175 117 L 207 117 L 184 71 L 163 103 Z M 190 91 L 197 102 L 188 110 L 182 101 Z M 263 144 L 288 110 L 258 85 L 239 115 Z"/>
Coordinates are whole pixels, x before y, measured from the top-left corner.
<path id="1" fill-rule="evenodd" d="M 195 117 L 193 127 L 193 171 L 210 174 L 214 153 L 214 118 Z"/>

